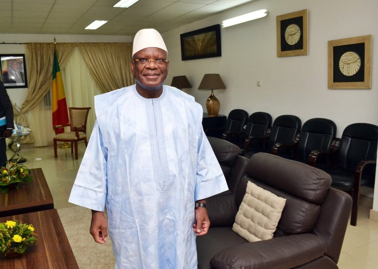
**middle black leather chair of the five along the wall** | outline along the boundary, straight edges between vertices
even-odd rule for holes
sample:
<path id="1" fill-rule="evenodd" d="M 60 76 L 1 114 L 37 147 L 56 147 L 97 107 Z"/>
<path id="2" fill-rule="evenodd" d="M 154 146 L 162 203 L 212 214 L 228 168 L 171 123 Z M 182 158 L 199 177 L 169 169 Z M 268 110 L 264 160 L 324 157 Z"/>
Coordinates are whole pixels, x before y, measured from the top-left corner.
<path id="1" fill-rule="evenodd" d="M 297 133 L 301 130 L 301 119 L 294 115 L 281 115 L 277 117 L 272 125 L 269 135 L 264 138 L 248 137 L 244 141 L 244 156 L 251 158 L 257 152 L 271 153 L 272 147 L 276 143 L 293 143 Z M 268 146 L 258 149 L 250 150 L 249 146 L 253 140 L 262 140 L 263 143 L 268 143 Z M 291 150 L 291 149 L 290 149 Z"/>

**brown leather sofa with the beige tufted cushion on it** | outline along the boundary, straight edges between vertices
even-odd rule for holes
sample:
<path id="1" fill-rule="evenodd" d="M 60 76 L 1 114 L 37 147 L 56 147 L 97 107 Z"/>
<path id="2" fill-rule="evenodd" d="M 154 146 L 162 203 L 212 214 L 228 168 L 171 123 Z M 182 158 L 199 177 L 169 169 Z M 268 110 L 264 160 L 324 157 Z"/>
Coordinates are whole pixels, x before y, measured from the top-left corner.
<path id="1" fill-rule="evenodd" d="M 286 198 L 273 239 L 249 243 L 232 231 L 248 180 Z M 352 206 L 324 171 L 257 153 L 235 193 L 207 199 L 211 227 L 197 236 L 198 269 L 338 268 Z"/>

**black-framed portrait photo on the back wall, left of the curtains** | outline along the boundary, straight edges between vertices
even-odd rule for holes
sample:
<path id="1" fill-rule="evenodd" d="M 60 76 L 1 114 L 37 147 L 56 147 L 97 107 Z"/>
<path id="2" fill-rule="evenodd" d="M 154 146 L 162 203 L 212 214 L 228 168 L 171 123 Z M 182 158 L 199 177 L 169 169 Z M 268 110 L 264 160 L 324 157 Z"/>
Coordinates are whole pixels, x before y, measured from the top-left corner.
<path id="1" fill-rule="evenodd" d="M 1 80 L 6 89 L 27 88 L 25 54 L 0 54 Z"/>

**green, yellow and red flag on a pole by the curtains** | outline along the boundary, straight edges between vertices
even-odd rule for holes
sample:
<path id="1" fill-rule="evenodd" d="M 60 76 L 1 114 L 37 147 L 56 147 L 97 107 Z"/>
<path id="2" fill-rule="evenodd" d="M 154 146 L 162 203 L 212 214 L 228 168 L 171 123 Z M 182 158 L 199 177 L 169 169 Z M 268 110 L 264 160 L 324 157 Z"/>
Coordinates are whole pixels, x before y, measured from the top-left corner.
<path id="1" fill-rule="evenodd" d="M 53 64 L 53 126 L 63 125 L 70 122 L 68 119 L 66 94 L 64 92 L 62 73 L 60 73 L 58 58 L 56 50 L 54 49 L 54 64 Z M 61 128 L 59 133 L 64 132 Z"/>

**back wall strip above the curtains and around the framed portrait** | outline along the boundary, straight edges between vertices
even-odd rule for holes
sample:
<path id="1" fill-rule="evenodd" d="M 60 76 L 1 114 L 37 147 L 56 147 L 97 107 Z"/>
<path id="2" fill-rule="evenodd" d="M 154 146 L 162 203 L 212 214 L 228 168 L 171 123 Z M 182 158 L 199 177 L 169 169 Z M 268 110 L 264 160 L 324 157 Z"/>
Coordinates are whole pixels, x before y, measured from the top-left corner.
<path id="1" fill-rule="evenodd" d="M 25 54 L 25 45 L 17 43 L 28 42 L 132 42 L 131 36 L 104 36 L 104 35 L 67 35 L 67 34 L 0 34 L 0 54 Z M 53 72 L 51 70 L 51 72 Z M 12 104 L 21 107 L 26 99 L 27 88 L 7 89 Z"/>

